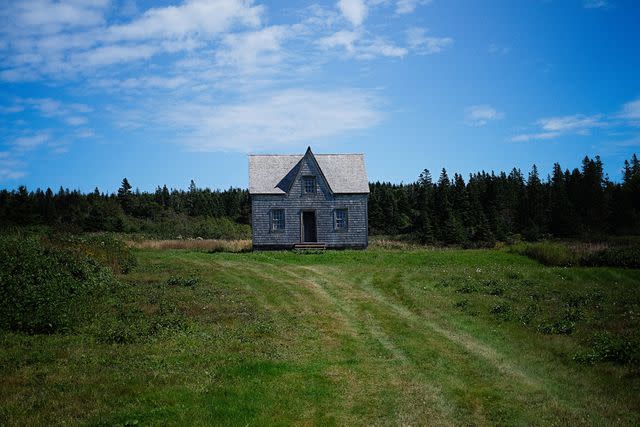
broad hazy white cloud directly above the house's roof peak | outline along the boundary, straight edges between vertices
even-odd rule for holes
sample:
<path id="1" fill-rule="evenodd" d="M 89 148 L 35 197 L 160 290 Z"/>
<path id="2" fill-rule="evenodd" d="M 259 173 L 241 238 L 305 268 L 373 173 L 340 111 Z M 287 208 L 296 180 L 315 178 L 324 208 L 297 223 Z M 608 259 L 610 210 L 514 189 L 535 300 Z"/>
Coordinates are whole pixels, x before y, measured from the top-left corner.
<path id="1" fill-rule="evenodd" d="M 353 89 L 285 90 L 219 106 L 184 103 L 160 115 L 193 150 L 243 152 L 331 138 L 382 119 L 377 99 Z"/>

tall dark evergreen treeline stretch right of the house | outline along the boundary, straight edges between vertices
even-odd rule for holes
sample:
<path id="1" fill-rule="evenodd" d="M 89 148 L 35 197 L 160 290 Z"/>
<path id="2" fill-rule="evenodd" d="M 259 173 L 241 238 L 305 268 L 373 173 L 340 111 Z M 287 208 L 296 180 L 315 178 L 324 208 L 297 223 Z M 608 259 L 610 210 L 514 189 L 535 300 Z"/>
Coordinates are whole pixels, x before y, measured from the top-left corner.
<path id="1" fill-rule="evenodd" d="M 422 243 L 493 243 L 515 235 L 595 236 L 640 233 L 640 162 L 625 161 L 621 183 L 603 172 L 602 161 L 585 157 L 581 168 L 556 163 L 546 179 L 534 165 L 525 177 L 479 172 L 465 181 L 442 170 L 433 182 L 424 170 L 408 185 L 370 184 L 372 234 L 409 235 Z"/>

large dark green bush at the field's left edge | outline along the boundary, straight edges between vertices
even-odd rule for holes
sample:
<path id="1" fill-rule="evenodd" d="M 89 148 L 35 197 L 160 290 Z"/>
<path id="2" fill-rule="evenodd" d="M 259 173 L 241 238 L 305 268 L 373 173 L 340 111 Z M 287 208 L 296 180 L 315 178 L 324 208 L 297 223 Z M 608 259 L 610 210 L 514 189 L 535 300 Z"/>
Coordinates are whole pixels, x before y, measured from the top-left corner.
<path id="1" fill-rule="evenodd" d="M 72 327 L 89 302 L 117 283 L 76 252 L 35 237 L 0 237 L 0 329 L 52 333 Z"/>

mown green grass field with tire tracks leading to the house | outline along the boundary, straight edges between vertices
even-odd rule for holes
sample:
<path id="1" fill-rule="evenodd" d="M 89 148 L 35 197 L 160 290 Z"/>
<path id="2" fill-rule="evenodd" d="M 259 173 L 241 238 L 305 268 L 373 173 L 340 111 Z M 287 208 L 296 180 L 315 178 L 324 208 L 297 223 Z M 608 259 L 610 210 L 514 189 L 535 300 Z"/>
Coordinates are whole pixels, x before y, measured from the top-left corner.
<path id="1" fill-rule="evenodd" d="M 136 256 L 80 330 L 0 335 L 0 424 L 640 424 L 640 270 L 507 250 Z"/>

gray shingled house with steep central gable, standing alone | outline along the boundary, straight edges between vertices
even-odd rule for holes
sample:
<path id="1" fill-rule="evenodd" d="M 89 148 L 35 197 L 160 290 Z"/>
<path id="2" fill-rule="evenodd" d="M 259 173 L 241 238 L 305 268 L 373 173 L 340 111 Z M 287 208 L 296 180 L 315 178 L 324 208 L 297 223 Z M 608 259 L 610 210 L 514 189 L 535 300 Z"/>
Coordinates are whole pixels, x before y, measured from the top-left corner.
<path id="1" fill-rule="evenodd" d="M 366 248 L 363 154 L 249 156 L 254 249 Z"/>

